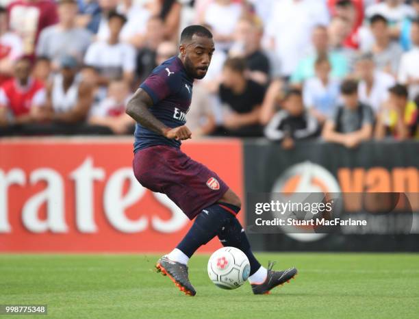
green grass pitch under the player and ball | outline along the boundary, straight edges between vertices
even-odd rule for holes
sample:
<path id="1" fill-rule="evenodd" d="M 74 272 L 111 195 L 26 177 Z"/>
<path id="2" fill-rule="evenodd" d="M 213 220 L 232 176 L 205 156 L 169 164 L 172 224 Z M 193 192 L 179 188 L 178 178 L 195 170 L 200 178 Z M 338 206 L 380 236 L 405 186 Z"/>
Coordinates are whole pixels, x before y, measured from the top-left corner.
<path id="1" fill-rule="evenodd" d="M 157 274 L 157 255 L 0 255 L 0 304 L 47 304 L 48 316 L 0 318 L 418 318 L 419 255 L 258 253 L 299 275 L 272 294 L 221 290 L 208 255 L 190 260 L 194 297 Z"/>

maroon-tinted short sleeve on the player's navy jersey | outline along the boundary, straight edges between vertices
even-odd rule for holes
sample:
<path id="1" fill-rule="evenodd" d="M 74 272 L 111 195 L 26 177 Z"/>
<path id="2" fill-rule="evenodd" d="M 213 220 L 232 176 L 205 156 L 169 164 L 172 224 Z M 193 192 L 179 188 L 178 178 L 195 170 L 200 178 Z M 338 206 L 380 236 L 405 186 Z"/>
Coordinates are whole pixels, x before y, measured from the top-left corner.
<path id="1" fill-rule="evenodd" d="M 181 83 L 181 75 L 179 73 L 168 74 L 166 68 L 162 68 L 160 71 L 151 73 L 142 82 L 140 88 L 149 94 L 153 104 L 157 104 L 166 99 L 166 97 L 179 92 Z"/>

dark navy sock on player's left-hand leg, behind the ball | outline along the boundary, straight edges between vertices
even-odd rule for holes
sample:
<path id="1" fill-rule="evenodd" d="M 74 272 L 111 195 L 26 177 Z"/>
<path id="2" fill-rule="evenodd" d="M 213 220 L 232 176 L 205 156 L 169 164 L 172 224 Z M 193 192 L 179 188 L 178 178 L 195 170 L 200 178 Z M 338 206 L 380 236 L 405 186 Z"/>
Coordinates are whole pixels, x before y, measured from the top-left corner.
<path id="1" fill-rule="evenodd" d="M 212 240 L 231 217 L 234 217 L 231 212 L 218 204 L 203 209 L 176 248 L 191 257 L 196 249 Z"/>

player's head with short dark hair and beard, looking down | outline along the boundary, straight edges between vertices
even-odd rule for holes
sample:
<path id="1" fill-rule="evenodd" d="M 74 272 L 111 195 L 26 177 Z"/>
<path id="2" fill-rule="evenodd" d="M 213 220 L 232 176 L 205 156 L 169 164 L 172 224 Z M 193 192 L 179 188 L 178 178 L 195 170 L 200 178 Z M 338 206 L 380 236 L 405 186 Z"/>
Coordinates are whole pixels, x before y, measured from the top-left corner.
<path id="1" fill-rule="evenodd" d="M 212 33 L 202 25 L 186 27 L 181 33 L 179 51 L 186 73 L 194 79 L 202 79 L 207 74 L 214 52 Z"/>

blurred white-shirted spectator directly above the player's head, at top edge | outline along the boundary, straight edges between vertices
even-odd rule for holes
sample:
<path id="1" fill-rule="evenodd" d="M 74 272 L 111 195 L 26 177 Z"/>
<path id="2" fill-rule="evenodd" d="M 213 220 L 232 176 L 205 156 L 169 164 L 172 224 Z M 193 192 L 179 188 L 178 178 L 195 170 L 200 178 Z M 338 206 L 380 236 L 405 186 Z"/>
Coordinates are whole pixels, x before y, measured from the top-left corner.
<path id="1" fill-rule="evenodd" d="M 233 35 L 243 8 L 230 0 L 214 0 L 201 16 L 201 24 L 210 25 L 216 49 L 228 51 L 233 44 Z"/>

